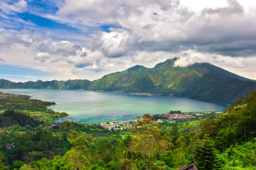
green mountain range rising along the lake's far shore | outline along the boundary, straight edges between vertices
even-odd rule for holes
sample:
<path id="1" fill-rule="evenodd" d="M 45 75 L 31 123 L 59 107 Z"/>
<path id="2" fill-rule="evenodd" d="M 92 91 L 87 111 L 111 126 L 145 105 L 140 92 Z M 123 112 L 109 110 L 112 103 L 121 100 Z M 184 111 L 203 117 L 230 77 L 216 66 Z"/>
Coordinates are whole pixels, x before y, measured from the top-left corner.
<path id="1" fill-rule="evenodd" d="M 209 63 L 175 67 L 177 58 L 153 68 L 135 65 L 94 81 L 67 80 L 11 82 L 0 79 L 0 88 L 84 89 L 174 95 L 208 102 L 234 104 L 256 90 L 256 81 Z"/>

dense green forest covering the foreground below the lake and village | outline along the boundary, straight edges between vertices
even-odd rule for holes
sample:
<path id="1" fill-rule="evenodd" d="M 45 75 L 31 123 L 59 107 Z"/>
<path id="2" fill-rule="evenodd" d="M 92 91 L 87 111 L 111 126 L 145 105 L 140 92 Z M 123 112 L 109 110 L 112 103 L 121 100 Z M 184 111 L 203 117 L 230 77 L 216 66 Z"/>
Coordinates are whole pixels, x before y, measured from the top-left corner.
<path id="1" fill-rule="evenodd" d="M 192 160 L 198 170 L 256 170 L 256 91 L 220 114 L 172 121 L 145 114 L 131 130 L 49 127 L 60 114 L 46 108 L 52 102 L 1 94 L 0 103 L 1 170 L 176 170 Z"/>

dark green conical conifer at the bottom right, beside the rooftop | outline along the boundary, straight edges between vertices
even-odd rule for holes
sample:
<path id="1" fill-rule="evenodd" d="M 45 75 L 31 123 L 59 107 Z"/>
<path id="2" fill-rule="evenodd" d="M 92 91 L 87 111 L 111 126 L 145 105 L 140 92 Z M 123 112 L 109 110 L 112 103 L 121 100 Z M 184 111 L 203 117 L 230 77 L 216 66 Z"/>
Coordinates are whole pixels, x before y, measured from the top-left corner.
<path id="1" fill-rule="evenodd" d="M 197 142 L 194 160 L 198 170 L 220 170 L 223 167 L 208 135 Z"/>

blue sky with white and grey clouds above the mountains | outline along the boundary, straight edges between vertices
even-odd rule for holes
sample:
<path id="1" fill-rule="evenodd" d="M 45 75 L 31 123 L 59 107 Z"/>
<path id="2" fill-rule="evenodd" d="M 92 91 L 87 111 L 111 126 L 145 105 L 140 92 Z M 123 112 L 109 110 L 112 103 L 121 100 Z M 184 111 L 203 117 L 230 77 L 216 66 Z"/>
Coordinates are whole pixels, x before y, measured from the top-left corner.
<path id="1" fill-rule="evenodd" d="M 0 79 L 210 62 L 256 80 L 255 0 L 0 0 Z"/>

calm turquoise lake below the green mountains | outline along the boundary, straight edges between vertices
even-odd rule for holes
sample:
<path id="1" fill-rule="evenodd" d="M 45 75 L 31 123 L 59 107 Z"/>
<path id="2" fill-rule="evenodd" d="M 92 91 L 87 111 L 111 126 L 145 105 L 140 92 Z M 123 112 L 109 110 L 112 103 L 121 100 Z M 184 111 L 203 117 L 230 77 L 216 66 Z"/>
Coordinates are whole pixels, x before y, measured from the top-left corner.
<path id="1" fill-rule="evenodd" d="M 162 114 L 170 110 L 201 112 L 219 111 L 226 108 L 225 105 L 182 97 L 136 96 L 87 90 L 0 89 L 0 91 L 54 101 L 56 105 L 51 105 L 49 108 L 67 112 L 69 118 L 86 123 L 132 120 L 145 113 Z"/>

